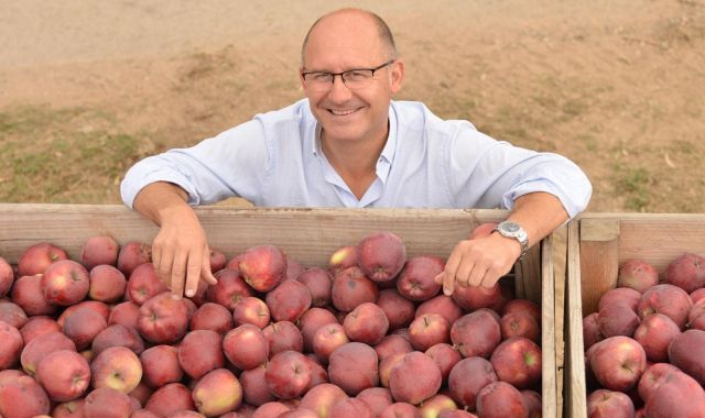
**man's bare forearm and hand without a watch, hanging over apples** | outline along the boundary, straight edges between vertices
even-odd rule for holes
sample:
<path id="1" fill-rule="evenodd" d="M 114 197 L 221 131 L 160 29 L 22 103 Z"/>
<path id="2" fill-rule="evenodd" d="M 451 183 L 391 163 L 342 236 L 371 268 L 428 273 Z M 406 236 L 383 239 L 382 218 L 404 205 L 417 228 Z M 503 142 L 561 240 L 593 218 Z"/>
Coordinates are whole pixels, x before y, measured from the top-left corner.
<path id="1" fill-rule="evenodd" d="M 134 199 L 134 210 L 160 227 L 152 242 L 152 262 L 162 283 L 175 297 L 194 296 L 198 280 L 217 280 L 210 272 L 210 249 L 196 212 L 181 187 L 166 182 L 145 186 Z M 185 288 L 184 288 L 185 287 Z"/>

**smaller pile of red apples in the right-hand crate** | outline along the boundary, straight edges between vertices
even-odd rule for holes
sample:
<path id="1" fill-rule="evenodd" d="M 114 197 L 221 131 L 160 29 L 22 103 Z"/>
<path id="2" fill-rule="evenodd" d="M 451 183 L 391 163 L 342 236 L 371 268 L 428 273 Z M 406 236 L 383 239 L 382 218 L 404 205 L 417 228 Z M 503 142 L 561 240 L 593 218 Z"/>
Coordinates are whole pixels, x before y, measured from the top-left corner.
<path id="1" fill-rule="evenodd" d="M 583 319 L 589 417 L 705 417 L 705 257 L 619 268 Z"/>

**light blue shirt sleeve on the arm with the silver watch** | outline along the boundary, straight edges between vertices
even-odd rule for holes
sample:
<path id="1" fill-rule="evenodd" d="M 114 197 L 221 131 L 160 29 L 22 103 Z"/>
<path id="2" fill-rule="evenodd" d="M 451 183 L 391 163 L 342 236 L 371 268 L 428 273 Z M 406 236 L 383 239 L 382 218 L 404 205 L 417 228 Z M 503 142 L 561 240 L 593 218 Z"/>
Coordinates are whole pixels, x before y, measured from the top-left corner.
<path id="1" fill-rule="evenodd" d="M 517 198 L 544 191 L 561 200 L 571 218 L 589 202 L 593 188 L 568 158 L 496 141 L 471 125 L 458 129 L 448 152 L 452 193 L 466 207 L 511 209 Z M 464 201 L 464 196 L 479 196 Z"/>

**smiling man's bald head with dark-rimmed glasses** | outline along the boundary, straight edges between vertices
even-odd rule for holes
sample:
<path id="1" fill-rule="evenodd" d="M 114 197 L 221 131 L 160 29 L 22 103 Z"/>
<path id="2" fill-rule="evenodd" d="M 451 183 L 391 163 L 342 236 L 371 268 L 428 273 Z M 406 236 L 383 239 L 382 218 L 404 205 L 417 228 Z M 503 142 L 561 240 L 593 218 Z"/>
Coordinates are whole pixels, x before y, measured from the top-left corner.
<path id="1" fill-rule="evenodd" d="M 352 77 L 344 82 L 339 75 L 328 82 L 315 82 L 312 76 L 304 76 L 311 72 L 339 74 L 370 68 L 378 69 L 362 82 L 350 82 Z M 326 139 L 380 141 L 386 138 L 389 102 L 401 89 L 404 64 L 397 57 L 389 28 L 378 15 L 343 9 L 318 19 L 304 40 L 301 74 L 311 109 L 323 125 Z"/>

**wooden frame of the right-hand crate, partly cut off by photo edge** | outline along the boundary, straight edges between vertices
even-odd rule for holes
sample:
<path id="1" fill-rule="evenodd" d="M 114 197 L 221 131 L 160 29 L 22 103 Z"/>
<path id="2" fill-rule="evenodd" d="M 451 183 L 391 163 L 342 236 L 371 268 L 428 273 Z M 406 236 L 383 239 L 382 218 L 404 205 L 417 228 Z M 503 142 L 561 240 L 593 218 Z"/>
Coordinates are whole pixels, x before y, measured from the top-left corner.
<path id="1" fill-rule="evenodd" d="M 583 318 L 616 287 L 619 266 L 640 258 L 662 275 L 685 252 L 705 255 L 705 215 L 583 213 L 568 224 L 565 416 L 586 417 Z"/>

